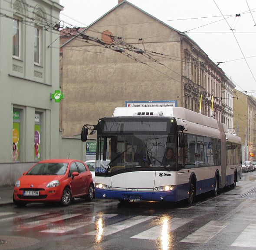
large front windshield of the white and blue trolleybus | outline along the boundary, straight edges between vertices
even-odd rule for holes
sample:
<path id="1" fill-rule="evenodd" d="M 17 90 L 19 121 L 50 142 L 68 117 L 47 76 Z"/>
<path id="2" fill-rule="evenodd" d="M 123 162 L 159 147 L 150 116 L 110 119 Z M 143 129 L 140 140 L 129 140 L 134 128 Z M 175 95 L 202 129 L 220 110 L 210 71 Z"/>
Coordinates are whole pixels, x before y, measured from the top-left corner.
<path id="1" fill-rule="evenodd" d="M 100 136 L 98 160 L 108 160 L 106 172 L 177 170 L 176 136 L 128 134 Z M 101 175 L 101 174 L 99 174 Z"/>

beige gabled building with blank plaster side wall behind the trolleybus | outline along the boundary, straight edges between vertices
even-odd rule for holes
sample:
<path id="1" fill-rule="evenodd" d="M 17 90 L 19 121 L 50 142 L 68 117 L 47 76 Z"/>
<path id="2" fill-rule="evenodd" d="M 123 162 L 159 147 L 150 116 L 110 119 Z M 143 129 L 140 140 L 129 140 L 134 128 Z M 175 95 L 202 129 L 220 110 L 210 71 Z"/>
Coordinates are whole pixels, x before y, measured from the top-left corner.
<path id="1" fill-rule="evenodd" d="M 67 42 L 67 37 L 74 36 L 72 31 L 61 39 L 63 136 L 79 134 L 83 124 L 97 124 L 100 117 L 111 116 L 115 107 L 125 106 L 125 101 L 173 100 L 198 112 L 202 94 L 202 113 L 210 116 L 209 100 L 214 94 L 216 118 L 221 119 L 217 97 L 224 72 L 184 33 L 125 0 L 82 33 L 90 38 L 77 33 Z M 144 53 L 136 53 L 135 48 Z M 216 82 L 209 90 L 208 75 Z"/>

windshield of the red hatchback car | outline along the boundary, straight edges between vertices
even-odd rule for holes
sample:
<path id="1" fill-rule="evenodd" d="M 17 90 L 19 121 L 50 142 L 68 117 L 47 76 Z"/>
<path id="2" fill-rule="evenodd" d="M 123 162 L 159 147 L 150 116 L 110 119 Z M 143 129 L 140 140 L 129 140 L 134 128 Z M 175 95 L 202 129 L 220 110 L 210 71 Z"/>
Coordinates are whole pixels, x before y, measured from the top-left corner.
<path id="1" fill-rule="evenodd" d="M 64 175 L 68 163 L 37 163 L 27 175 Z"/>

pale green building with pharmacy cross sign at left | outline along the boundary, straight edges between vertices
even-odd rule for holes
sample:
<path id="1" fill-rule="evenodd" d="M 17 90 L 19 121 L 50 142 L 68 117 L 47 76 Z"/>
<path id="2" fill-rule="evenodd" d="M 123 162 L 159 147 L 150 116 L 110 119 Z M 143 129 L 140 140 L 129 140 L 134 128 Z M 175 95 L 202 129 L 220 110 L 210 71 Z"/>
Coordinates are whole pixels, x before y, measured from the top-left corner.
<path id="1" fill-rule="evenodd" d="M 59 0 L 0 0 L 0 186 L 59 158 Z M 53 95 L 54 96 L 54 95 Z"/>

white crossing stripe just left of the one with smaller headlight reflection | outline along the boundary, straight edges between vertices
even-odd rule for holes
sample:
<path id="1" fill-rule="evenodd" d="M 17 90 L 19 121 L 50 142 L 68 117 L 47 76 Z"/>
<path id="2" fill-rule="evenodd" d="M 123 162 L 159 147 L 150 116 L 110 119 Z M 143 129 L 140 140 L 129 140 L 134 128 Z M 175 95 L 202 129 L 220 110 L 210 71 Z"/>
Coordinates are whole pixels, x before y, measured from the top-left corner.
<path id="1" fill-rule="evenodd" d="M 76 221 L 75 223 L 70 224 L 69 226 L 61 226 L 61 227 L 46 229 L 43 231 L 39 231 L 39 233 L 64 234 L 66 232 L 76 230 L 76 229 L 85 227 L 89 224 L 95 223 L 95 221 L 99 218 L 107 219 L 107 218 L 111 218 L 113 216 L 117 216 L 117 215 L 110 214 L 110 215 L 99 215 L 99 216 L 87 216 L 87 217 L 89 217 L 88 221 L 85 221 L 85 218 L 82 218 L 81 220 Z"/>

